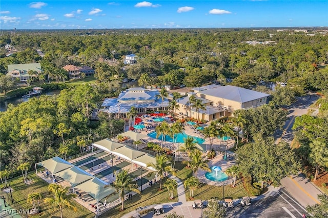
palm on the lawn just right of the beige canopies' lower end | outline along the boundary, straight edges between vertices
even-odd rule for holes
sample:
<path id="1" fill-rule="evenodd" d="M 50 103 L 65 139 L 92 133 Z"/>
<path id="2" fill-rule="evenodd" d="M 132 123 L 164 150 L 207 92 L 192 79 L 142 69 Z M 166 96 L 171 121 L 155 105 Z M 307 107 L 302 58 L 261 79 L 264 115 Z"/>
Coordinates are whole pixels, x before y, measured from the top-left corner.
<path id="1" fill-rule="evenodd" d="M 165 172 L 168 174 L 175 175 L 174 169 L 170 165 L 171 159 L 165 154 L 156 155 L 155 163 L 147 163 L 147 167 L 152 167 L 155 169 L 155 172 L 151 172 L 150 175 L 156 173 L 160 177 L 159 189 L 162 189 L 162 179 L 164 178 Z"/>

